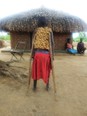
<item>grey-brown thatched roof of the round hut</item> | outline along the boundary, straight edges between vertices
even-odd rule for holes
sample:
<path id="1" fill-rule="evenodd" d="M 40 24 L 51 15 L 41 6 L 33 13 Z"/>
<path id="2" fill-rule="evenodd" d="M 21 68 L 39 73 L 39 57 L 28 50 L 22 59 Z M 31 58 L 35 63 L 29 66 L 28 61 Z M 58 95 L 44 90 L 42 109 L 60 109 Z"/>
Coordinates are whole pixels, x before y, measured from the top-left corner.
<path id="1" fill-rule="evenodd" d="M 87 31 L 87 24 L 76 16 L 46 8 L 33 9 L 4 18 L 0 21 L 0 30 L 30 32 L 37 27 L 39 16 L 45 16 L 55 32 Z"/>

